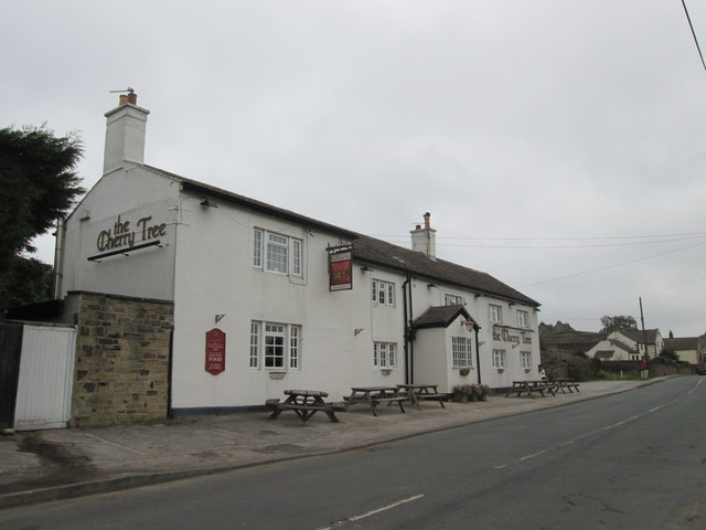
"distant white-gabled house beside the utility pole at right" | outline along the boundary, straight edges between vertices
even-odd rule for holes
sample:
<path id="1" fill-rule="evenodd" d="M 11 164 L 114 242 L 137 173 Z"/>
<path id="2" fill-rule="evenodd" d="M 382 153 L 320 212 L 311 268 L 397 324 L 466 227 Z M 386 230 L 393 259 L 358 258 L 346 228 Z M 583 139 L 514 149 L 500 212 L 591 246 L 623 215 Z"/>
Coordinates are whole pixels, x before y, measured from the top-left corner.
<path id="1" fill-rule="evenodd" d="M 613 331 L 586 353 L 601 361 L 639 361 L 644 358 L 645 336 L 648 354 L 654 359 L 664 350 L 664 339 L 659 329 Z"/>

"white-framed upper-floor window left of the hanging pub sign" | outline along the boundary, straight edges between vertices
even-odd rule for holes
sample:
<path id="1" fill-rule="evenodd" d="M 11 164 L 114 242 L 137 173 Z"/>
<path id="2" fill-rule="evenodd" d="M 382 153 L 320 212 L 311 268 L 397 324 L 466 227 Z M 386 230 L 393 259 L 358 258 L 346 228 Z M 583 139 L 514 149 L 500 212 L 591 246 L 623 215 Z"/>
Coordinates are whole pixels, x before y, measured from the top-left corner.
<path id="1" fill-rule="evenodd" d="M 302 275 L 302 241 L 255 229 L 253 266 L 269 273 Z"/>

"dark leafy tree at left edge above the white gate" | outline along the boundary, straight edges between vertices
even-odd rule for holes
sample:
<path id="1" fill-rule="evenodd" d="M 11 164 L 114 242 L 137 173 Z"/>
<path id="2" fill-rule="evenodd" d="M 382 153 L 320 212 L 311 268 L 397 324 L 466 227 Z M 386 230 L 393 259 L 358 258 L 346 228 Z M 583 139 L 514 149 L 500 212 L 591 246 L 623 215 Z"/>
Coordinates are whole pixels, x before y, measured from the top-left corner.
<path id="1" fill-rule="evenodd" d="M 75 171 L 82 153 L 73 132 L 57 137 L 45 126 L 0 129 L 0 293 L 6 300 L 15 272 L 26 268 L 17 261 L 35 251 L 32 239 L 52 227 L 84 192 Z"/>

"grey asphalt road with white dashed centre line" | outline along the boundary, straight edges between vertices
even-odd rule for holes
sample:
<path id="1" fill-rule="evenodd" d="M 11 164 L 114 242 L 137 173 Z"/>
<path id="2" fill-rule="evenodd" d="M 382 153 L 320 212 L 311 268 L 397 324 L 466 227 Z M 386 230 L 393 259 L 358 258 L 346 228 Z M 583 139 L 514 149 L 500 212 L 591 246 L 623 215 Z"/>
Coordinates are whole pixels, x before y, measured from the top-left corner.
<path id="1" fill-rule="evenodd" d="M 706 381 L 0 512 L 2 529 L 703 529 Z M 699 504 L 700 502 L 700 504 Z"/>

